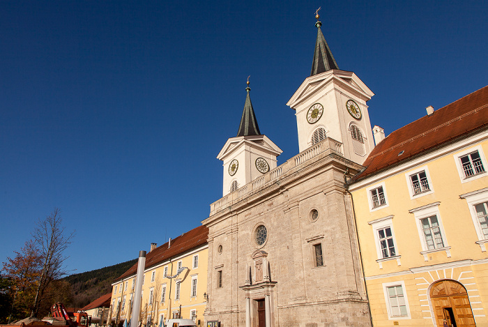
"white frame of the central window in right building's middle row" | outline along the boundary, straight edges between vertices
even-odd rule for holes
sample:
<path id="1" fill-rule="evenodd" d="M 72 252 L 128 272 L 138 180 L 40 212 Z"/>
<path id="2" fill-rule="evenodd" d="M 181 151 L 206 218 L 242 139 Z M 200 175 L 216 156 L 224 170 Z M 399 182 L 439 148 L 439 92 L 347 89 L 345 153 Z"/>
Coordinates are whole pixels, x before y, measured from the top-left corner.
<path id="1" fill-rule="evenodd" d="M 445 253 L 448 255 L 448 258 L 451 257 L 448 238 L 445 236 L 445 231 L 444 231 L 444 227 L 442 224 L 441 213 L 439 212 L 439 204 L 441 204 L 441 202 L 434 202 L 432 204 L 427 204 L 425 206 L 420 206 L 418 208 L 413 208 L 413 209 L 409 210 L 409 213 L 413 213 L 413 215 L 415 217 L 415 223 L 416 223 L 417 229 L 418 229 L 418 236 L 420 239 L 420 244 L 422 245 L 422 251 L 420 252 L 420 254 L 422 254 L 424 256 L 425 261 L 429 261 L 428 254 L 432 253 L 432 252 L 445 251 Z M 444 246 L 443 246 L 443 248 L 437 248 L 437 249 L 429 250 L 429 248 L 427 248 L 427 241 L 425 240 L 425 234 L 424 234 L 424 231 L 422 228 L 421 220 L 424 218 L 432 217 L 433 215 L 436 216 L 437 222 L 439 222 L 439 229 L 441 231 L 441 237 L 442 237 Z"/>

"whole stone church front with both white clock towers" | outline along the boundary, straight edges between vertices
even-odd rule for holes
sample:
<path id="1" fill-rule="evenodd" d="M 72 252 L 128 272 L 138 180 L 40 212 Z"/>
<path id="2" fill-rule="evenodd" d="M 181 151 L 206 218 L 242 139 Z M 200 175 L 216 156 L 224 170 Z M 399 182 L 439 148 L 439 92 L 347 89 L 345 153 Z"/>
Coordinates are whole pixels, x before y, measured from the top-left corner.
<path id="1" fill-rule="evenodd" d="M 317 20 L 319 17 L 317 16 Z M 261 134 L 250 88 L 238 135 L 220 151 L 223 197 L 211 204 L 206 321 L 220 326 L 371 326 L 346 178 L 374 148 L 373 93 L 339 70 L 320 26 L 307 77 L 287 105 L 300 153 Z"/>

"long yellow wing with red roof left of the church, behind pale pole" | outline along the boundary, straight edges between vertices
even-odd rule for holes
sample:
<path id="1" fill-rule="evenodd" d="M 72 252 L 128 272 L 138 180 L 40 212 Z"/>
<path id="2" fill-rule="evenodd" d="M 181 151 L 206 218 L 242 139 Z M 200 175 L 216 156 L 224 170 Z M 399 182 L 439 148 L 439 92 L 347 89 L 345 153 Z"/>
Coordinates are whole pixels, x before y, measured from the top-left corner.
<path id="1" fill-rule="evenodd" d="M 139 321 L 160 326 L 167 319 L 193 319 L 204 326 L 208 266 L 208 229 L 200 226 L 146 255 Z M 137 264 L 112 284 L 112 321 L 131 317 Z"/>

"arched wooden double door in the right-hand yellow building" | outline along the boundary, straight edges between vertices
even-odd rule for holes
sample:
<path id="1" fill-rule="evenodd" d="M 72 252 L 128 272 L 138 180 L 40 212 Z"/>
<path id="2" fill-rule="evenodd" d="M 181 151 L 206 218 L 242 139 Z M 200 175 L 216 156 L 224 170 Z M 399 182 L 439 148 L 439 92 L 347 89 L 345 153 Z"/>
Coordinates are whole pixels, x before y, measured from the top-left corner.
<path id="1" fill-rule="evenodd" d="M 453 280 L 441 280 L 432 285 L 430 298 L 436 317 L 436 324 L 443 327 L 444 320 L 448 327 L 476 326 L 468 292 Z"/>

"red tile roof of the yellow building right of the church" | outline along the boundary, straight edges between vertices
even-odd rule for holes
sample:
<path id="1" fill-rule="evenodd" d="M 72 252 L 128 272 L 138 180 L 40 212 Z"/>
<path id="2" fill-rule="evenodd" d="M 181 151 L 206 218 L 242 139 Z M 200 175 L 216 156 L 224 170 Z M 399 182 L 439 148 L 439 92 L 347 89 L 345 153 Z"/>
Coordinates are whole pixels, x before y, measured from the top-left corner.
<path id="1" fill-rule="evenodd" d="M 363 164 L 367 168 L 354 181 L 487 128 L 487 125 L 488 86 L 485 86 L 392 132 L 369 154 Z"/>

